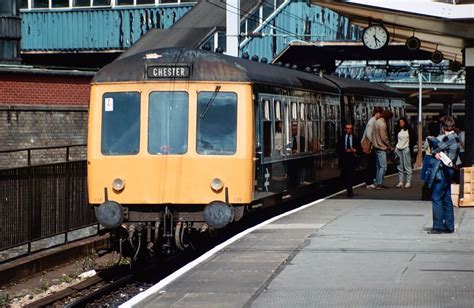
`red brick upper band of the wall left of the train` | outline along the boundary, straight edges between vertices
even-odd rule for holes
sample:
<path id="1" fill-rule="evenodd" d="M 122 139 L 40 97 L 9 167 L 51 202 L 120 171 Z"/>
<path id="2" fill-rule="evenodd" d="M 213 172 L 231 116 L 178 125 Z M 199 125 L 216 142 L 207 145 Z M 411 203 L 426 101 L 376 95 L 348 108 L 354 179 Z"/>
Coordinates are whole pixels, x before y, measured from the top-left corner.
<path id="1" fill-rule="evenodd" d="M 0 104 L 87 106 L 91 79 L 89 76 L 0 73 Z"/>

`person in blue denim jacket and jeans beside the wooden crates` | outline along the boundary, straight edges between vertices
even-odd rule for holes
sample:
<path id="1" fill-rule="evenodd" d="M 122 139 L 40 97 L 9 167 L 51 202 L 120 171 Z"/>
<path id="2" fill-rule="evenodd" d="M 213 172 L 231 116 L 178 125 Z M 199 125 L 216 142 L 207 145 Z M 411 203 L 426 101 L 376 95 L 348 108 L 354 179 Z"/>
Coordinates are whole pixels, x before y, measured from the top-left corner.
<path id="1" fill-rule="evenodd" d="M 454 132 L 454 119 L 449 116 L 441 118 L 443 133 L 438 136 L 437 146 L 431 149 L 431 154 L 441 160 L 441 152 L 451 159 L 451 166 L 439 164 L 431 186 L 431 202 L 433 205 L 433 228 L 428 234 L 454 232 L 454 210 L 451 200 L 451 180 L 454 166 L 460 151 L 460 141 Z"/>

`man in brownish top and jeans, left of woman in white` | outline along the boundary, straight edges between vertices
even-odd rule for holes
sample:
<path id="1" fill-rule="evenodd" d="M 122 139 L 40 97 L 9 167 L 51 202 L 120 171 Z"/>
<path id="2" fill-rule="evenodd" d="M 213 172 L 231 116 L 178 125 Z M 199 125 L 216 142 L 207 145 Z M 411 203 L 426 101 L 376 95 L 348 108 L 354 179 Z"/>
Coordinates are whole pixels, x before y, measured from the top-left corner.
<path id="1" fill-rule="evenodd" d="M 386 109 L 382 112 L 380 119 L 375 121 L 372 141 L 375 150 L 376 174 L 375 189 L 388 188 L 384 186 L 383 178 L 387 171 L 387 152 L 392 150 L 390 140 L 388 139 L 387 123 L 393 117 L 393 113 Z"/>

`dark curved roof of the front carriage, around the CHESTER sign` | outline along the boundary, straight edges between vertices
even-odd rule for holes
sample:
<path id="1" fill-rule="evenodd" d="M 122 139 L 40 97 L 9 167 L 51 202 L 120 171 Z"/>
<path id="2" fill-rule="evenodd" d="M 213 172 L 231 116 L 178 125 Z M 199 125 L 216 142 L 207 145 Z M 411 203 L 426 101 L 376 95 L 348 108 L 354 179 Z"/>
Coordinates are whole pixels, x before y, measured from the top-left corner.
<path id="1" fill-rule="evenodd" d="M 147 73 L 148 68 L 175 65 L 188 66 L 189 75 L 186 75 L 186 78 L 160 77 L 160 80 L 254 82 L 339 93 L 332 82 L 314 74 L 202 49 L 187 48 L 149 50 L 117 59 L 102 68 L 95 75 L 93 82 L 156 80 Z"/>

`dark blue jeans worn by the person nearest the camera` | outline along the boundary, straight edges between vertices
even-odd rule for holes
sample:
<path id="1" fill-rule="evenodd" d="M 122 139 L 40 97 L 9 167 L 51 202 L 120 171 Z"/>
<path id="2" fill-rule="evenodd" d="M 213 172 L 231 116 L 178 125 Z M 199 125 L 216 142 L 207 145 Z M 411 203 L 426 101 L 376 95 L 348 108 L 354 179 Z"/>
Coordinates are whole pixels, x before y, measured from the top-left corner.
<path id="1" fill-rule="evenodd" d="M 432 185 L 431 202 L 433 205 L 433 229 L 454 231 L 454 209 L 451 200 L 451 178 L 453 169 L 442 168 L 441 180 Z"/>

